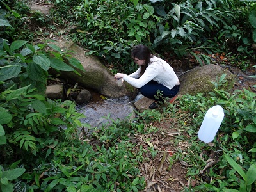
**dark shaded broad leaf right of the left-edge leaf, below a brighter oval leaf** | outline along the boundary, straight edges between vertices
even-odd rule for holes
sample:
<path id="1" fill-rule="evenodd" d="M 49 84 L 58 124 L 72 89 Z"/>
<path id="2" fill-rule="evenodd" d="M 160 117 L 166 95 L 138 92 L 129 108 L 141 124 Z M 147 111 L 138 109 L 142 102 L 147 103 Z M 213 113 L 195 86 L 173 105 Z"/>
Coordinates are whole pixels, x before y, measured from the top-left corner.
<path id="1" fill-rule="evenodd" d="M 35 63 L 29 63 L 27 67 L 28 76 L 33 81 L 41 81 L 42 83 L 46 82 L 47 74 L 44 73 L 44 70 Z"/>

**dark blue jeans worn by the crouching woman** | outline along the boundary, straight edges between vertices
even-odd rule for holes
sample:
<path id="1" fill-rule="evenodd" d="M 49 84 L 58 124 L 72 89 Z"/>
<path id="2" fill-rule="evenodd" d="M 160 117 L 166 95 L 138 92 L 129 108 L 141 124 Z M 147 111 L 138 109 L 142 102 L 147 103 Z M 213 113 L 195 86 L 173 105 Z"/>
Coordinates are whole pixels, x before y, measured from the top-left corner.
<path id="1" fill-rule="evenodd" d="M 149 81 L 147 84 L 139 88 L 140 93 L 144 95 L 147 98 L 154 99 L 157 101 L 163 102 L 165 97 L 172 98 L 179 92 L 179 85 L 175 85 L 171 90 L 167 88 L 166 86 L 163 86 L 163 84 L 158 84 L 156 81 Z M 157 90 L 159 90 L 161 93 L 160 95 L 157 95 Z M 154 96 L 157 96 L 156 97 Z"/>

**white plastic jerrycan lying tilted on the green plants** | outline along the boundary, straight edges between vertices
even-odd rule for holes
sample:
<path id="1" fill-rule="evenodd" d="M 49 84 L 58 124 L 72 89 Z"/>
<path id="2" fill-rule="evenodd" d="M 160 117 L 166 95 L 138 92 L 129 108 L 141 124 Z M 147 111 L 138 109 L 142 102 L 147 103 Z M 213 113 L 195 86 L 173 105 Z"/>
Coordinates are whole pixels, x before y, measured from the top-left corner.
<path id="1" fill-rule="evenodd" d="M 204 141 L 205 143 L 210 143 L 214 140 L 223 118 L 224 111 L 221 106 L 216 105 L 208 109 L 198 131 L 199 140 Z"/>

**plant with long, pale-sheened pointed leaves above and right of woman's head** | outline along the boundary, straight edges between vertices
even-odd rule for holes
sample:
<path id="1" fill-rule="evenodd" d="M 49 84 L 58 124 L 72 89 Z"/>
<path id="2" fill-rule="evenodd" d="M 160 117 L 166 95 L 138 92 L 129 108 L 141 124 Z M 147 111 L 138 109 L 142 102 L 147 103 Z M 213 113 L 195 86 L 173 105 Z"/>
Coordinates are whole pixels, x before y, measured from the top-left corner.
<path id="1" fill-rule="evenodd" d="M 170 50 L 173 50 L 179 57 L 188 54 L 192 47 L 211 52 L 213 47 L 207 44 L 205 33 L 210 33 L 214 28 L 220 28 L 221 24 L 226 25 L 224 19 L 227 19 L 227 16 L 232 17 L 230 12 L 221 12 L 213 1 L 208 1 L 207 4 L 201 1 L 186 1 L 173 4 L 173 8 L 168 13 L 165 13 L 164 10 L 161 10 L 161 13 L 164 15 L 164 19 L 159 25 L 159 33 L 154 40 L 154 47 L 171 44 Z M 198 44 L 193 45 L 195 42 Z M 206 56 L 202 56 L 202 58 L 209 63 L 209 58 Z"/>

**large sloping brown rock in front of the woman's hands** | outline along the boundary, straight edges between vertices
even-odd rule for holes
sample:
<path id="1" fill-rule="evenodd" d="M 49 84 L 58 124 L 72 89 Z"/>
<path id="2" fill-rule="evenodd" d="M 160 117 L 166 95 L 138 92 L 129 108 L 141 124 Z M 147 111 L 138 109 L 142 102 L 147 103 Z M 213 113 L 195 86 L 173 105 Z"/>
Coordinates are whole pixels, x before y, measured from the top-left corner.
<path id="1" fill-rule="evenodd" d="M 106 97 L 119 98 L 128 95 L 125 86 L 118 86 L 110 70 L 95 56 L 85 56 L 85 50 L 73 42 L 67 43 L 59 40 L 56 45 L 63 50 L 72 51 L 72 56 L 79 60 L 84 67 L 84 71 L 77 69 L 77 72 L 61 72 L 61 77 L 68 79 L 70 83 L 78 83 L 84 88 L 91 88 Z"/>

